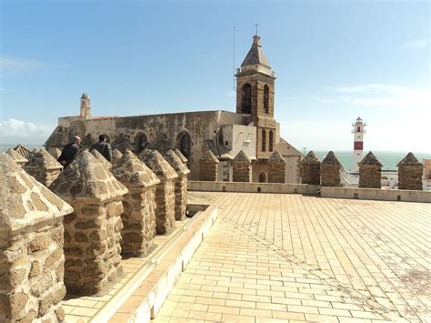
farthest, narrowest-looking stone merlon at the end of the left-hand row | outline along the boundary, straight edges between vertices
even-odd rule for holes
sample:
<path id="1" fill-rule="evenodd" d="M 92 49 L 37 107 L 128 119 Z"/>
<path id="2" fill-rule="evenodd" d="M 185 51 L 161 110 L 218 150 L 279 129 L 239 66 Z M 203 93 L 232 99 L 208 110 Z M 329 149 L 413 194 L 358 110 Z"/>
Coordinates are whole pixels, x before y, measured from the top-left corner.
<path id="1" fill-rule="evenodd" d="M 175 180 L 175 220 L 181 221 L 185 219 L 187 211 L 187 175 L 190 170 L 174 150 L 168 150 L 165 153 L 165 159 L 178 175 Z"/>

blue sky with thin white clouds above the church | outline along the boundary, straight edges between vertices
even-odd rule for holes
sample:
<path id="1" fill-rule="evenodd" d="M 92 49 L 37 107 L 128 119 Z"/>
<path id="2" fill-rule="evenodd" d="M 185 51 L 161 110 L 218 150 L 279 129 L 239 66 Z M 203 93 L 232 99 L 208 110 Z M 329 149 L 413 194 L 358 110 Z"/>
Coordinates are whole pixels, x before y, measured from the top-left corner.
<path id="1" fill-rule="evenodd" d="M 428 1 L 0 3 L 0 144 L 43 144 L 83 92 L 93 116 L 235 111 L 258 24 L 293 146 L 351 150 L 361 116 L 366 150 L 431 152 Z"/>

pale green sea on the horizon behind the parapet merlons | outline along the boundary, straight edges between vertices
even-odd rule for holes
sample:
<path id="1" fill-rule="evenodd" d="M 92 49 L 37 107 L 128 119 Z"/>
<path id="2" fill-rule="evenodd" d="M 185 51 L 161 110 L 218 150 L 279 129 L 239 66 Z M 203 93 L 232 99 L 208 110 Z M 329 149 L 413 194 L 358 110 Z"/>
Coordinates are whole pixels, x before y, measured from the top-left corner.
<path id="1" fill-rule="evenodd" d="M 0 145 L 0 152 L 4 152 L 9 148 L 14 148 L 16 145 Z M 24 145 L 29 149 L 33 148 L 42 148 L 42 145 Z M 368 151 L 364 151 L 364 156 Z M 383 170 L 396 170 L 396 164 L 403 159 L 408 152 L 406 151 L 373 151 L 373 154 L 376 155 L 380 163 L 382 163 Z M 431 159 L 431 153 L 423 153 L 423 152 L 413 152 L 416 156 L 416 158 L 419 161 L 422 161 L 422 159 Z M 315 151 L 315 154 L 317 158 L 319 158 L 320 161 L 325 158 L 327 151 Z M 345 171 L 348 172 L 349 170 L 353 169 L 353 151 L 334 151 L 334 154 L 336 154 L 336 157 L 340 161 L 340 163 L 345 168 Z"/>

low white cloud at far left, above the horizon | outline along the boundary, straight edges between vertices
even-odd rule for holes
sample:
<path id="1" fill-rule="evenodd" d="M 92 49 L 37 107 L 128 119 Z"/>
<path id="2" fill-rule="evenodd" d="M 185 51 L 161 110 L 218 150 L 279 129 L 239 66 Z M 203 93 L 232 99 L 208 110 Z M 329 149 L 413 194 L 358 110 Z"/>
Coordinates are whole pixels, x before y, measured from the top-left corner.
<path id="1" fill-rule="evenodd" d="M 36 125 L 32 122 L 14 118 L 0 121 L 0 137 L 2 141 L 17 142 L 23 139 L 45 141 L 55 126 Z"/>

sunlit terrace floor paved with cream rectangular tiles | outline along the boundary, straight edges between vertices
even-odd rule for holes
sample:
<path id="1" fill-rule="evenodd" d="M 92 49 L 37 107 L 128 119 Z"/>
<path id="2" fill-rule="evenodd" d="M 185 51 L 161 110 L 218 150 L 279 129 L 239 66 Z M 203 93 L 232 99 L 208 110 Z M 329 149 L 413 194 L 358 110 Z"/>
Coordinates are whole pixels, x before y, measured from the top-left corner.
<path id="1" fill-rule="evenodd" d="M 431 204 L 189 198 L 220 215 L 155 322 L 431 321 Z"/>

